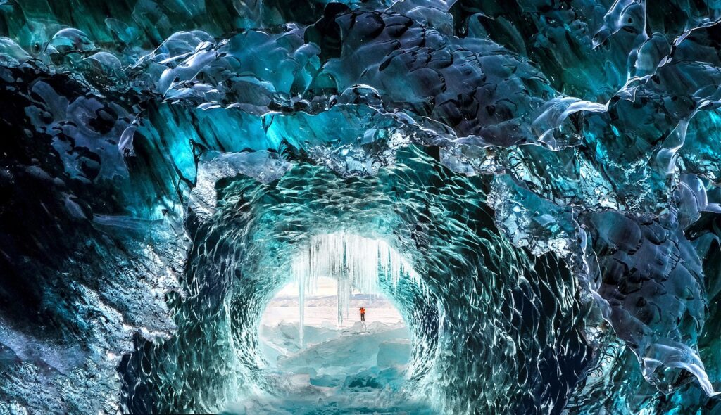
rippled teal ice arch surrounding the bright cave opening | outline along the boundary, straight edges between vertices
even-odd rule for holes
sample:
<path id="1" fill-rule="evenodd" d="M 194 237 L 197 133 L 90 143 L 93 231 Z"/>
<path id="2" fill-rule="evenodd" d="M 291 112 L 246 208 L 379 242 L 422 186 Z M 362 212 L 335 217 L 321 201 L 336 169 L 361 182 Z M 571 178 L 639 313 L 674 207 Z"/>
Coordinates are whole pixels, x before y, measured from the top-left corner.
<path id="1" fill-rule="evenodd" d="M 187 295 L 171 301 L 177 333 L 138 340 L 120 365 L 123 405 L 133 413 L 220 411 L 231 397 L 273 389 L 256 334 L 265 304 L 288 279 L 279 270 L 314 234 L 342 229 L 386 241 L 428 289 L 421 295 L 408 284 L 395 298 L 420 336 L 408 393 L 448 412 L 562 407 L 590 357 L 575 323 L 582 309 L 572 275 L 500 236 L 486 188 L 413 147 L 371 177 L 301 162 L 268 184 L 219 180 L 213 214 L 186 221 L 193 246 Z"/>

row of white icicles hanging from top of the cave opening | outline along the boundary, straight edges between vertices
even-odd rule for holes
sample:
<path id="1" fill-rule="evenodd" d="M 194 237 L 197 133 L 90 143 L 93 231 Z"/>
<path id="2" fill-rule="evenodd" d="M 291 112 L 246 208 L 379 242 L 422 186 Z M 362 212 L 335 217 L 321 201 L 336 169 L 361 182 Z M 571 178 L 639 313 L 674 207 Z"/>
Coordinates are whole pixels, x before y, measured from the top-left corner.
<path id="1" fill-rule="evenodd" d="M 395 287 L 401 278 L 420 281 L 410 264 L 381 239 L 365 238 L 338 232 L 312 236 L 298 251 L 292 264 L 293 280 L 298 284 L 300 342 L 303 344 L 305 296 L 314 293 L 319 277 L 337 280 L 338 323 L 350 314 L 350 297 L 354 291 L 373 298 L 379 292 L 379 279 Z"/>

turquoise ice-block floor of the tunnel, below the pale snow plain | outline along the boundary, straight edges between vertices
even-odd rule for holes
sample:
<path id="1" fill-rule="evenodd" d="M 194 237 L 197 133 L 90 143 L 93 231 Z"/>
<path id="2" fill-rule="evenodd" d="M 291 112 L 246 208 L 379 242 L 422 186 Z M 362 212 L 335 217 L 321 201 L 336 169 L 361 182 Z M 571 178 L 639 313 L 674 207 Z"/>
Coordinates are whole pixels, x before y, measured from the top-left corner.
<path id="1" fill-rule="evenodd" d="M 293 352 L 288 348 L 296 340 L 292 338 L 295 331 L 283 326 L 274 329 L 265 336 L 265 347 L 270 348 L 265 355 L 275 358 L 265 370 L 272 393 L 234 403 L 226 414 L 438 413 L 428 402 L 404 393 L 409 389 L 405 378 L 410 358 L 404 326 L 308 331 L 323 340 Z"/>

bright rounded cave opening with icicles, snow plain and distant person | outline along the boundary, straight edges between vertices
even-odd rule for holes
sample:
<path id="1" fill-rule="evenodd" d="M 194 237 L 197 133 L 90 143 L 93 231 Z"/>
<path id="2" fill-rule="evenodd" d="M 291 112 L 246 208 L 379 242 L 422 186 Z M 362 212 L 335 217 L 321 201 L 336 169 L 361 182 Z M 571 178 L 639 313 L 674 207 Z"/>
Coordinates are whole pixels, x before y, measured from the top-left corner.
<path id="1" fill-rule="evenodd" d="M 270 370 L 324 388 L 402 382 L 410 331 L 384 293 L 415 273 L 394 249 L 348 233 L 315 236 L 297 252 L 291 274 L 260 321 Z"/>

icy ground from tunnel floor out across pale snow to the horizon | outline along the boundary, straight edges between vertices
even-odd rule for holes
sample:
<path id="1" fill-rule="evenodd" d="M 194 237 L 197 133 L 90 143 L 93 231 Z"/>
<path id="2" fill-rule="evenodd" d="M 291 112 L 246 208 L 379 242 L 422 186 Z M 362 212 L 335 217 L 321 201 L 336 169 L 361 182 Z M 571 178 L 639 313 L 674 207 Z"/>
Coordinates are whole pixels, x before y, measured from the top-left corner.
<path id="1" fill-rule="evenodd" d="M 260 328 L 260 347 L 276 393 L 234 403 L 227 413 L 435 414 L 427 403 L 409 401 L 399 392 L 411 345 L 398 311 L 383 298 L 369 303 L 364 297 L 355 296 L 350 310 L 368 308 L 365 326 L 358 316 L 337 325 L 330 296 L 306 301 L 302 348 L 297 300 L 273 300 Z"/>

